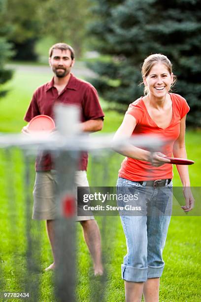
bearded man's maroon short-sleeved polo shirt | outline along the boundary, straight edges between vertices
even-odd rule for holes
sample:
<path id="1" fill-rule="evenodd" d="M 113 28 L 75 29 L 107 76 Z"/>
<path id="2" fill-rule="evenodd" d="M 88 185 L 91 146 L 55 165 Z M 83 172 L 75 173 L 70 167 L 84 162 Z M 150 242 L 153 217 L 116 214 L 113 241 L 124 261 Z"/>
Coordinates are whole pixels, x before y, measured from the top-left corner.
<path id="1" fill-rule="evenodd" d="M 90 83 L 78 79 L 71 74 L 67 86 L 58 94 L 54 87 L 54 78 L 40 87 L 38 87 L 25 114 L 24 119 L 29 122 L 34 116 L 39 114 L 46 114 L 53 119 L 53 107 L 56 103 L 73 104 L 80 107 L 81 122 L 89 119 L 96 119 L 104 117 L 104 113 L 100 107 L 97 90 Z M 88 163 L 88 154 L 83 152 L 79 170 L 86 170 Z M 49 154 L 38 156 L 35 165 L 36 171 L 47 171 L 54 168 L 51 163 Z"/>

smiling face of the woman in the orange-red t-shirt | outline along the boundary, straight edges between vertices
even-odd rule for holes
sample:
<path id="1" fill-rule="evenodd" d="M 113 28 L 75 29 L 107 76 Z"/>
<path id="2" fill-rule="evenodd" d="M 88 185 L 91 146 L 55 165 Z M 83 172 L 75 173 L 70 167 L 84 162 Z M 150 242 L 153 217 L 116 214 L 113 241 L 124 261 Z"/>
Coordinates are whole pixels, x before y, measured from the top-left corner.
<path id="1" fill-rule="evenodd" d="M 148 76 L 143 78 L 150 96 L 163 98 L 169 92 L 173 82 L 173 74 L 169 73 L 167 66 L 163 63 L 156 63 L 151 68 Z"/>

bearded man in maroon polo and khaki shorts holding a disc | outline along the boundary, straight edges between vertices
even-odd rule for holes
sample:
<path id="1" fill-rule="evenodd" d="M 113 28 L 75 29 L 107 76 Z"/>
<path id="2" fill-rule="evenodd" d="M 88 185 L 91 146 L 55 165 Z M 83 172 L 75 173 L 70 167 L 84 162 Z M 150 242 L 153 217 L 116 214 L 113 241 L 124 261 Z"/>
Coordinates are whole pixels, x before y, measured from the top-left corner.
<path id="1" fill-rule="evenodd" d="M 88 82 L 73 76 L 70 71 L 75 63 L 74 50 L 65 43 L 57 43 L 49 50 L 49 65 L 54 73 L 52 80 L 39 88 L 33 94 L 31 104 L 25 115 L 29 122 L 34 116 L 46 114 L 54 118 L 53 106 L 76 104 L 81 108 L 81 128 L 84 132 L 95 132 L 102 129 L 103 112 L 100 107 L 98 93 Z M 23 133 L 29 133 L 28 125 L 23 127 Z M 88 187 L 86 175 L 88 154 L 81 158 L 79 171 L 76 172 L 75 186 Z M 50 155 L 46 154 L 36 159 L 36 178 L 33 189 L 33 219 L 46 220 L 47 234 L 52 248 L 54 262 L 46 268 L 53 269 L 57 265 L 55 259 L 54 225 L 55 213 L 55 170 Z M 92 255 L 95 275 L 101 275 L 101 247 L 99 227 L 92 216 L 77 217 L 83 227 L 84 238 Z"/>

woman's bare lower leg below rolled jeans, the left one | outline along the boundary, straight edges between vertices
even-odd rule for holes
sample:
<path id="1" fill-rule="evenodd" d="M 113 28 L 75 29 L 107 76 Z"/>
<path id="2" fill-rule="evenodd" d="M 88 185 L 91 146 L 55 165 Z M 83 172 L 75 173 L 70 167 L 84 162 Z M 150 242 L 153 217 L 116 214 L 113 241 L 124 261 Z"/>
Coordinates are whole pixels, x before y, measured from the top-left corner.
<path id="1" fill-rule="evenodd" d="M 126 302 L 141 302 L 143 282 L 125 281 Z"/>

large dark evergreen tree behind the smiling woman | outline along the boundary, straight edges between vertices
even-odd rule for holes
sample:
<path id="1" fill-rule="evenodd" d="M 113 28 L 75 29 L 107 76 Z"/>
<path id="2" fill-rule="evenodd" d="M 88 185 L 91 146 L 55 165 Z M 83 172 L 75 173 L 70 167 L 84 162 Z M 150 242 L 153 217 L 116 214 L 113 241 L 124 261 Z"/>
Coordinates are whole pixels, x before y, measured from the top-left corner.
<path id="1" fill-rule="evenodd" d="M 107 101 L 129 104 L 140 95 L 140 65 L 152 53 L 167 55 L 178 77 L 174 91 L 190 107 L 189 124 L 201 126 L 201 1 L 93 0 L 90 33 L 109 55 L 90 67 Z"/>

